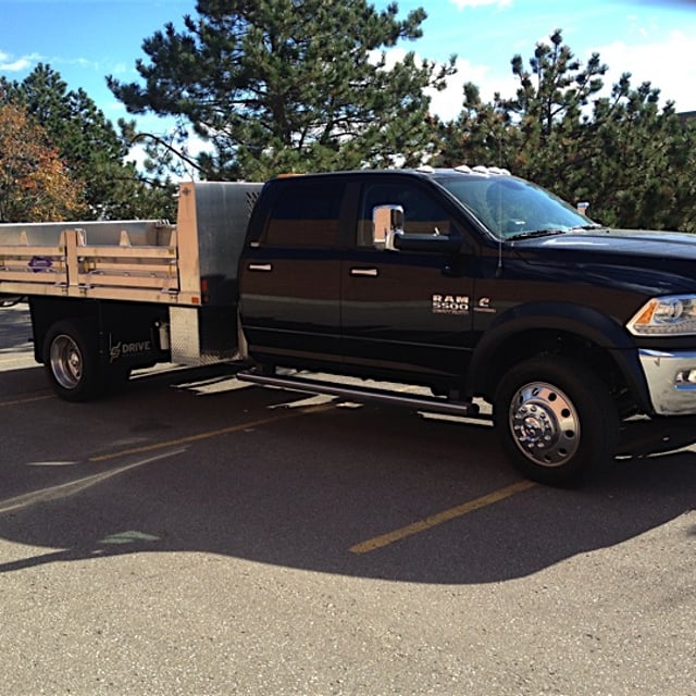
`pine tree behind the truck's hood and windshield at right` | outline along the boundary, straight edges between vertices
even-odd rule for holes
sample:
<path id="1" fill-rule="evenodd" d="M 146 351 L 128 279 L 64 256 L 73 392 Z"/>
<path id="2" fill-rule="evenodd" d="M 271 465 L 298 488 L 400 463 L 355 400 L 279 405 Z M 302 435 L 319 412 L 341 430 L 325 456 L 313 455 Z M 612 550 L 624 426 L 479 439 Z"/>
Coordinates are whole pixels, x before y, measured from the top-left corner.
<path id="1" fill-rule="evenodd" d="M 649 83 L 621 76 L 600 97 L 607 66 L 585 65 L 557 29 L 529 60 L 511 61 L 512 98 L 483 103 L 464 86 L 462 112 L 440 124 L 443 164 L 496 164 L 569 201 L 589 201 L 593 219 L 613 226 L 696 232 L 696 129 L 683 123 Z"/>

